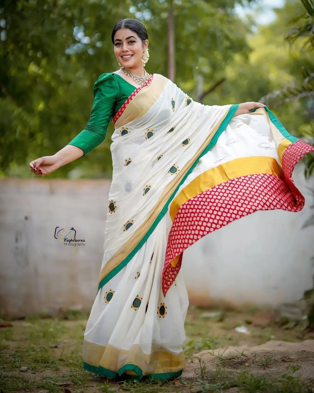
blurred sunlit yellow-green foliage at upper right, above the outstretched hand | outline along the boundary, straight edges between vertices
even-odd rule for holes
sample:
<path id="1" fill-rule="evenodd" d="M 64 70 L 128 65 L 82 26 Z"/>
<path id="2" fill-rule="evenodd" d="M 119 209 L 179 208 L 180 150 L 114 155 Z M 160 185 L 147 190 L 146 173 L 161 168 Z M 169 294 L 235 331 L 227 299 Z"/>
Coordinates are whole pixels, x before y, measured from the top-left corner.
<path id="1" fill-rule="evenodd" d="M 297 26 L 296 17 L 304 15 L 300 0 L 287 0 L 276 9 L 276 20 L 248 36 L 252 51 L 247 59 L 235 55 L 225 68 L 225 83 L 204 100 L 205 104 L 265 101 L 290 134 L 311 142 L 313 138 L 313 97 L 305 95 L 283 99 L 286 89 L 299 88 L 305 77 L 303 69 L 314 64 L 314 53 L 304 47 L 307 37 L 291 46 L 285 39 L 287 31 Z M 304 17 L 307 20 L 307 17 Z M 269 92 L 272 92 L 269 94 Z M 283 94 L 280 96 L 280 94 Z M 306 159 L 310 159 L 310 154 Z"/>

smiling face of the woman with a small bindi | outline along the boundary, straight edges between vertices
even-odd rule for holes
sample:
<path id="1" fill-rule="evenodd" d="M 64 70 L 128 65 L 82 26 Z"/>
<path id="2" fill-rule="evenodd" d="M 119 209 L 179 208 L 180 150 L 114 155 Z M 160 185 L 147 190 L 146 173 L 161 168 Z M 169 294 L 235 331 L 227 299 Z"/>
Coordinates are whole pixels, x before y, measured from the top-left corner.
<path id="1" fill-rule="evenodd" d="M 125 68 L 141 66 L 148 40 L 142 43 L 139 36 L 130 29 L 120 29 L 114 36 L 114 50 L 117 61 Z"/>

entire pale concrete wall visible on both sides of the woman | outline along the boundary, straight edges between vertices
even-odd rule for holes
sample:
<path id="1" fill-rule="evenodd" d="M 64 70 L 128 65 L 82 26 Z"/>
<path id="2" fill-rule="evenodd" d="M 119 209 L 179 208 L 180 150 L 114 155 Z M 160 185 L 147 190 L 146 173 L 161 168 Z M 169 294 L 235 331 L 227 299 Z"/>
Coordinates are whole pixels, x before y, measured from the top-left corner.
<path id="1" fill-rule="evenodd" d="M 254 213 L 184 252 L 191 303 L 276 305 L 299 299 L 312 286 L 314 227 L 301 230 L 312 197 L 302 165 L 294 180 L 306 198 L 303 211 Z M 314 187 L 313 181 L 308 185 Z M 109 188 L 106 180 L 0 180 L 1 314 L 90 310 L 103 255 Z M 60 236 L 55 239 L 56 227 L 66 233 L 75 228 L 85 245 L 65 246 Z"/>

